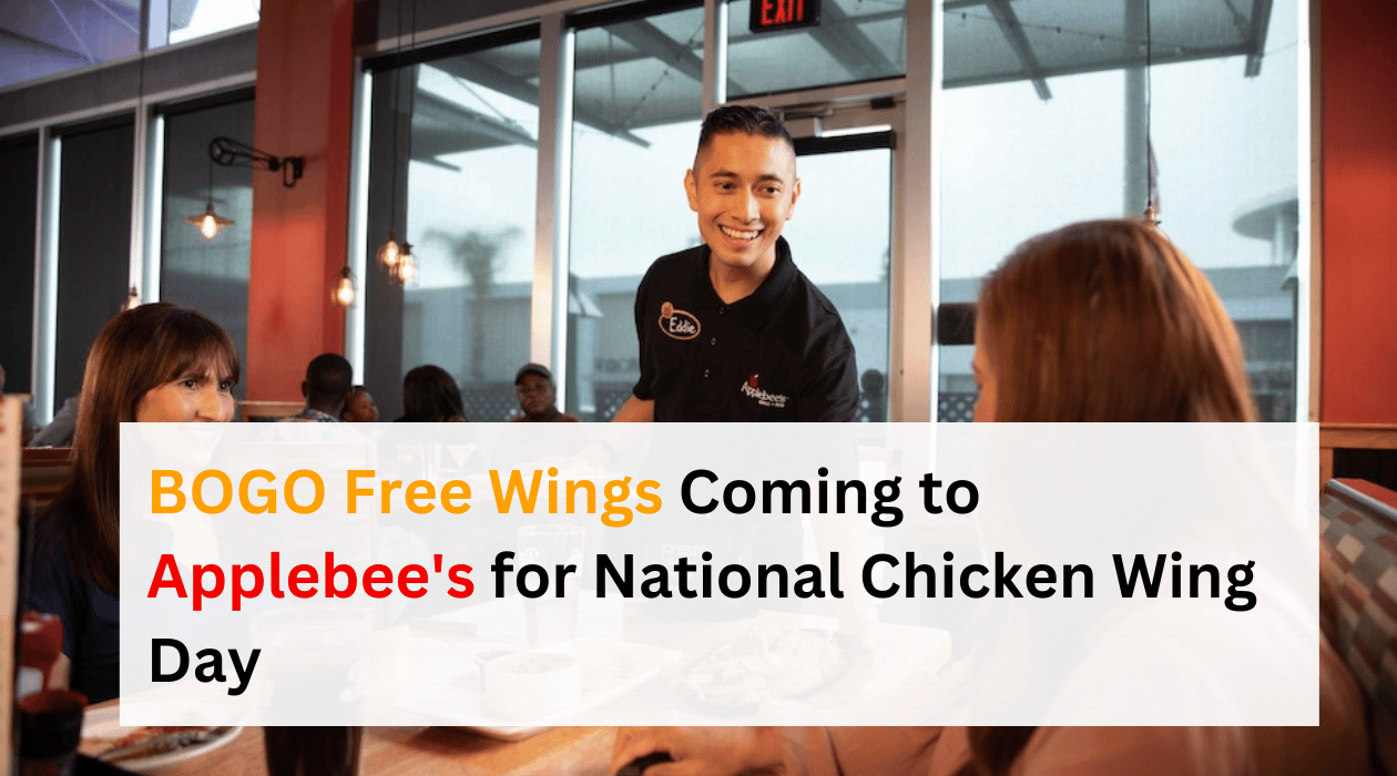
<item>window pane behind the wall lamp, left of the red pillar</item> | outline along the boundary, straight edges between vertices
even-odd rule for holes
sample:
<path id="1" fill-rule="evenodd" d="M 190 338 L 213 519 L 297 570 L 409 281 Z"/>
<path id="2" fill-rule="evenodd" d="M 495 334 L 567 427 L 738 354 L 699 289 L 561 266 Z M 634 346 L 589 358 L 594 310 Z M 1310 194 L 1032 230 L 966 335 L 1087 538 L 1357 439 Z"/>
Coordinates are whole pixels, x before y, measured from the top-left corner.
<path id="1" fill-rule="evenodd" d="M 203 310 L 233 338 L 247 363 L 247 279 L 251 255 L 253 170 L 221 167 L 208 142 L 253 137 L 253 100 L 165 116 L 165 181 L 161 202 L 161 299 Z M 232 223 L 204 237 L 187 216 L 208 204 Z M 237 389 L 242 395 L 242 387 Z"/>

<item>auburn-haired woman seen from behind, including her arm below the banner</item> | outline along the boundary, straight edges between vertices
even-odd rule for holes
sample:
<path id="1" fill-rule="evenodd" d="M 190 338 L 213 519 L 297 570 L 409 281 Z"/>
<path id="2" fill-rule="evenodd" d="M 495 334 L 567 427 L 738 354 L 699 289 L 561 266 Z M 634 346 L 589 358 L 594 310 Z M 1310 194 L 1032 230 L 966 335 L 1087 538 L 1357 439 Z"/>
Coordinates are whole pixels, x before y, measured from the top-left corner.
<path id="1" fill-rule="evenodd" d="M 1207 278 L 1151 226 L 1076 223 L 985 281 L 978 421 L 1252 421 L 1242 346 Z M 648 776 L 1366 775 L 1362 699 L 1320 645 L 1320 724 L 1239 727 L 634 729 L 616 765 Z"/>

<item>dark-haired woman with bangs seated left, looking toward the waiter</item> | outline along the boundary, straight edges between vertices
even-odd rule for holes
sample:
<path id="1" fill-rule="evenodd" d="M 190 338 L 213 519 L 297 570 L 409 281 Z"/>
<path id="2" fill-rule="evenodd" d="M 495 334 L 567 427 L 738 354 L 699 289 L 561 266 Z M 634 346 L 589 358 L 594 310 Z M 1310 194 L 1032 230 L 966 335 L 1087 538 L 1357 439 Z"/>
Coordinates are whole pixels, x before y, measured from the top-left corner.
<path id="1" fill-rule="evenodd" d="M 82 374 L 73 480 L 35 529 L 25 607 L 63 620 L 70 685 L 89 702 L 119 691 L 122 423 L 226 423 L 237 350 L 203 313 L 127 310 L 98 334 Z"/>

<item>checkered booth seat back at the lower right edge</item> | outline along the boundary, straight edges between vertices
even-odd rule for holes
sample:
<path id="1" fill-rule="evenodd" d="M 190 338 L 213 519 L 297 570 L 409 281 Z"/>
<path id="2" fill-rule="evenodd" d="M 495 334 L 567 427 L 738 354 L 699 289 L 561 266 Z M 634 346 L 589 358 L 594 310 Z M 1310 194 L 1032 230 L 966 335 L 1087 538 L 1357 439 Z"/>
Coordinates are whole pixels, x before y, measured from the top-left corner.
<path id="1" fill-rule="evenodd" d="M 1368 696 L 1375 759 L 1397 775 L 1397 493 L 1330 480 L 1320 497 L 1320 562 L 1334 593 L 1334 649 Z"/>

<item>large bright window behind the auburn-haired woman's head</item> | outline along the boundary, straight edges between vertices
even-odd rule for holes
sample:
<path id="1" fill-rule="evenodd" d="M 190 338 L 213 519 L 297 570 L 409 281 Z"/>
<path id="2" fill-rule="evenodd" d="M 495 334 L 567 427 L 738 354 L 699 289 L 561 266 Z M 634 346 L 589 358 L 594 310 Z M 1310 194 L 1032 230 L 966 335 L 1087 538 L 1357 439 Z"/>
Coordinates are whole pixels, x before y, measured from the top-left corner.
<path id="1" fill-rule="evenodd" d="M 1139 216 L 1148 130 L 1164 232 L 1236 322 L 1263 417 L 1294 419 L 1305 50 L 1295 0 L 1274 3 L 1260 39 L 1250 4 L 1157 4 L 1148 25 L 1146 3 L 1099 3 L 1092 14 L 1016 3 L 1013 18 L 946 6 L 942 300 L 974 300 L 979 278 L 1032 234 Z M 942 349 L 940 420 L 970 419 L 970 346 Z"/>

